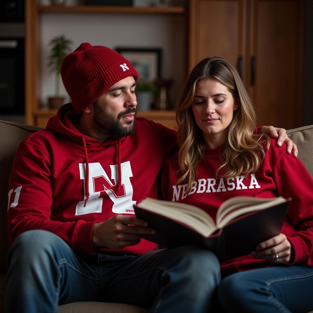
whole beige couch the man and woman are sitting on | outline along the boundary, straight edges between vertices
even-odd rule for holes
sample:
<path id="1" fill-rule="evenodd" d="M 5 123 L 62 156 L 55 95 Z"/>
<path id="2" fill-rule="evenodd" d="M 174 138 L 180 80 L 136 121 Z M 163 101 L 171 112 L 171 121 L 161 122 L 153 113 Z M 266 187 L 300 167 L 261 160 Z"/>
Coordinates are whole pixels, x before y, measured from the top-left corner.
<path id="1" fill-rule="evenodd" d="M 22 141 L 26 136 L 40 129 L 41 128 L 36 126 L 0 121 L 0 312 L 3 311 L 6 257 L 9 249 L 6 215 L 8 206 L 8 177 L 19 142 Z M 304 163 L 313 178 L 313 125 L 289 130 L 288 134 L 290 138 L 297 144 L 299 158 Z M 60 305 L 59 312 L 144 313 L 147 312 L 147 310 L 126 304 L 80 302 Z M 313 313 L 313 311 L 310 313 Z"/>

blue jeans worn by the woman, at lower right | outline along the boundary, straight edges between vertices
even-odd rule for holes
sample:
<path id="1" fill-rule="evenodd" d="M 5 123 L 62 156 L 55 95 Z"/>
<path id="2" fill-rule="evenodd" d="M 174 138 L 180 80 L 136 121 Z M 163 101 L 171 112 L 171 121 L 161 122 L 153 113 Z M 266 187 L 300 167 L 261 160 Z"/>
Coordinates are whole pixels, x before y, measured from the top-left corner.
<path id="1" fill-rule="evenodd" d="M 306 313 L 313 310 L 312 286 L 312 267 L 275 265 L 229 275 L 218 299 L 232 313 Z"/>

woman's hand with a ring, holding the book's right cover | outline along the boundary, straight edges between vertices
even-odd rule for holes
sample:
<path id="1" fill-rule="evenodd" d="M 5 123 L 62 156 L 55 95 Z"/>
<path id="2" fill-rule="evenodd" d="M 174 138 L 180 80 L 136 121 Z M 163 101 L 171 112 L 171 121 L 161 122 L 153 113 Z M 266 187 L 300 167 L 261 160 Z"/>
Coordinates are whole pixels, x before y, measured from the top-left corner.
<path id="1" fill-rule="evenodd" d="M 271 263 L 288 263 L 291 253 L 290 241 L 282 233 L 261 242 L 251 252 L 254 259 L 267 259 Z"/>

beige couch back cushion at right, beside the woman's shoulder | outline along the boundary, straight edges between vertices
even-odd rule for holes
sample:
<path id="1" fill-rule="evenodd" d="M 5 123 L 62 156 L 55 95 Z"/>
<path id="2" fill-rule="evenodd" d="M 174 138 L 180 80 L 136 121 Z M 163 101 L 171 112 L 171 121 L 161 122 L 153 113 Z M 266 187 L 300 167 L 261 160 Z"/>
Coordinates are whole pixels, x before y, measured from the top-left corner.
<path id="1" fill-rule="evenodd" d="M 287 134 L 297 145 L 298 157 L 313 178 L 313 125 L 290 129 Z"/>

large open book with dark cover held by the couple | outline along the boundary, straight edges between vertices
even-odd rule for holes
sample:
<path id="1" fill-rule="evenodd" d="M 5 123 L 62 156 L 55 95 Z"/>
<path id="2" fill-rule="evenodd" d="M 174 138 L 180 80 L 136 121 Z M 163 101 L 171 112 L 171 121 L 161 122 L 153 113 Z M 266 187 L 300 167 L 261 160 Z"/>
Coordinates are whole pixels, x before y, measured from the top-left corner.
<path id="1" fill-rule="evenodd" d="M 147 240 L 171 248 L 195 244 L 212 250 L 220 261 L 250 254 L 280 233 L 291 199 L 233 197 L 213 218 L 195 206 L 146 198 L 135 205 L 137 218 L 156 230 Z"/>

